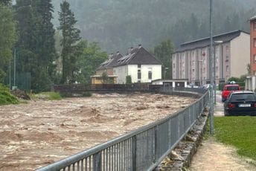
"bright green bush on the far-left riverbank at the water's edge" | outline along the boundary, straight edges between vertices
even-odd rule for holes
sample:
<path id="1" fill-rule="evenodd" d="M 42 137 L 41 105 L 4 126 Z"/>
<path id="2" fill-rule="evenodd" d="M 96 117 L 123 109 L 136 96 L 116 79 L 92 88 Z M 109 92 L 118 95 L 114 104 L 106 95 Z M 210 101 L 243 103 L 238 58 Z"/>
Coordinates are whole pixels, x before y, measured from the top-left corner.
<path id="1" fill-rule="evenodd" d="M 0 84 L 0 105 L 17 104 L 19 100 L 10 94 L 9 89 Z"/>

